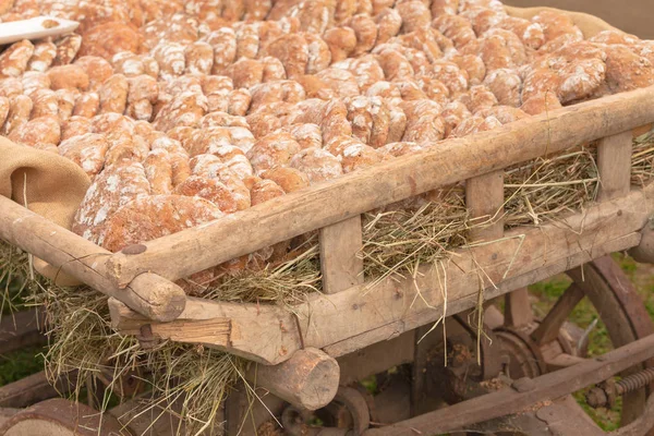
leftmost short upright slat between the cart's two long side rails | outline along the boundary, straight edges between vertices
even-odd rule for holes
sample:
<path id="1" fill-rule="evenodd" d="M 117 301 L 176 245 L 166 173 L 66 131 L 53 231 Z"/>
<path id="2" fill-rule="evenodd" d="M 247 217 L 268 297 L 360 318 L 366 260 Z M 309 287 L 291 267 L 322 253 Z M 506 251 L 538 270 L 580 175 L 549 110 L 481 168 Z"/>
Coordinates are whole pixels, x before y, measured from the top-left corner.
<path id="1" fill-rule="evenodd" d="M 361 215 L 319 231 L 323 292 L 337 293 L 363 283 Z"/>

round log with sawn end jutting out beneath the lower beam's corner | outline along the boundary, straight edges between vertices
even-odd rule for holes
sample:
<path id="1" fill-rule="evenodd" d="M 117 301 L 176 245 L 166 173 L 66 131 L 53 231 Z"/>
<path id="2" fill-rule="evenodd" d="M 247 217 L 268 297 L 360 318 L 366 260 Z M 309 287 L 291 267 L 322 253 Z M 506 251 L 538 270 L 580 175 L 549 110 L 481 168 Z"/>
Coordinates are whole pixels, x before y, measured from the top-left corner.
<path id="1" fill-rule="evenodd" d="M 291 359 L 279 365 L 252 364 L 245 379 L 295 407 L 317 410 L 336 396 L 340 368 L 325 352 L 306 348 L 295 351 Z"/>

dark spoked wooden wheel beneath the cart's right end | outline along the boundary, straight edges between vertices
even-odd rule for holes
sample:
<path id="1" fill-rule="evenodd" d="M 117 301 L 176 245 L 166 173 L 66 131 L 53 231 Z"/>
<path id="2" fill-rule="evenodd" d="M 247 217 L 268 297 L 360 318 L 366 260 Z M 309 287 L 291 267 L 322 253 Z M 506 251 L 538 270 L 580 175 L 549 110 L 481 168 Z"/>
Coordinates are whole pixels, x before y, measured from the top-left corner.
<path id="1" fill-rule="evenodd" d="M 609 257 L 601 257 L 567 275 L 570 286 L 542 320 L 535 322 L 524 291 L 508 294 L 501 326 L 494 317 L 493 330 L 509 351 L 511 378 L 534 377 L 574 365 L 586 358 L 588 334 L 567 319 L 585 298 L 597 312 L 614 348 L 633 342 L 654 331 L 652 320 L 633 284 Z M 643 368 L 630 368 L 628 375 Z M 622 396 L 621 425 L 633 422 L 644 410 L 649 387 Z"/>

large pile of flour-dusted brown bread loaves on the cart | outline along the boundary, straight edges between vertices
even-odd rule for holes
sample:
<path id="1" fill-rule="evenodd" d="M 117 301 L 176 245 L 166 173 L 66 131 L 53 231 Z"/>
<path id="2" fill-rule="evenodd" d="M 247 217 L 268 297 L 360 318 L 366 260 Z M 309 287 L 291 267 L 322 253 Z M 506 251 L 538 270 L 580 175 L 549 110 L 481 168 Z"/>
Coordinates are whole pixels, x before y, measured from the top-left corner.
<path id="1" fill-rule="evenodd" d="M 86 171 L 73 231 L 110 251 L 654 84 L 654 41 L 584 39 L 567 15 L 512 17 L 497 0 L 2 0 L 0 13 L 82 23 L 0 55 L 0 125 Z"/>

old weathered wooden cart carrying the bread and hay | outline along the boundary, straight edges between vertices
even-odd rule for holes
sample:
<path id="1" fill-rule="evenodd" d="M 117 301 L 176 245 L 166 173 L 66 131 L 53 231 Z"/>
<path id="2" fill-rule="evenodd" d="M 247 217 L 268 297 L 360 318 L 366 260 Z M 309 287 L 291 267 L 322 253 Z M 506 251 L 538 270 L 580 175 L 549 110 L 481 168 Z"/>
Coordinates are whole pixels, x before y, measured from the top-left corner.
<path id="1" fill-rule="evenodd" d="M 630 185 L 632 132 L 654 122 L 653 100 L 651 87 L 448 140 L 116 254 L 4 197 L 0 197 L 0 238 L 109 295 L 116 329 L 143 343 L 158 339 L 197 343 L 258 363 L 252 365 L 256 377 L 245 376 L 274 395 L 265 397 L 265 408 L 254 408 L 255 417 L 245 426 L 241 416 L 247 404 L 233 395 L 225 409 L 229 434 L 254 432 L 270 420 L 269 410 L 290 434 L 508 429 L 596 435 L 598 427 L 570 397 L 594 384 L 600 387 L 589 401 L 597 405 L 622 396 L 625 426 L 617 434 L 645 434 L 654 425 L 654 397 L 647 400 L 654 372 L 643 371 L 654 359 L 652 323 L 607 255 L 633 249 L 638 258 L 654 261 L 654 185 Z M 475 243 L 455 253 L 456 262 L 423 266 L 415 278 L 388 278 L 372 287 L 364 282 L 356 256 L 361 214 L 465 181 L 472 216 L 498 217 L 505 201 L 505 168 L 589 143 L 597 147 L 601 193 L 583 211 L 556 223 L 510 231 L 495 219 L 474 232 Z M 324 293 L 311 295 L 292 311 L 187 298 L 173 283 L 313 230 L 319 231 Z M 573 283 L 536 322 L 525 287 L 560 272 Z M 506 295 L 504 316 L 487 312 L 484 335 L 493 341 L 479 341 L 479 362 L 463 353 L 455 356 L 456 365 L 444 367 L 444 349 L 475 348 L 471 344 L 477 342 L 479 330 L 464 314 L 477 305 L 480 294 L 485 301 Z M 597 308 L 616 348 L 597 359 L 584 359 L 580 343 L 573 343 L 573 335 L 565 329 L 566 318 L 584 296 Z M 441 317 L 447 317 L 447 347 L 439 334 L 424 336 Z M 409 363 L 410 383 L 389 380 L 387 395 L 371 399 L 348 387 Z M 510 370 L 508 386 L 480 396 L 502 370 Z M 611 382 L 617 374 L 625 378 Z M 0 389 L 0 399 L 7 389 Z M 435 397 L 456 404 L 435 409 L 431 401 Z M 21 434 L 15 429 L 21 425 L 40 431 L 43 422 L 78 427 L 80 421 L 71 416 L 90 420 L 88 411 L 61 401 L 17 412 L 5 422 L 7 434 Z M 73 415 L 62 412 L 66 408 Z M 310 410 L 318 410 L 327 427 L 305 425 Z M 99 434 L 117 432 L 109 414 L 96 421 L 94 425 L 104 428 Z"/>

